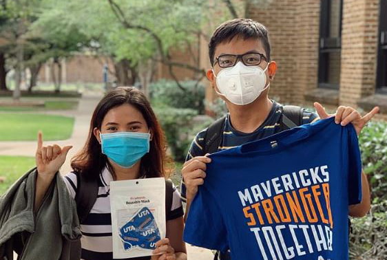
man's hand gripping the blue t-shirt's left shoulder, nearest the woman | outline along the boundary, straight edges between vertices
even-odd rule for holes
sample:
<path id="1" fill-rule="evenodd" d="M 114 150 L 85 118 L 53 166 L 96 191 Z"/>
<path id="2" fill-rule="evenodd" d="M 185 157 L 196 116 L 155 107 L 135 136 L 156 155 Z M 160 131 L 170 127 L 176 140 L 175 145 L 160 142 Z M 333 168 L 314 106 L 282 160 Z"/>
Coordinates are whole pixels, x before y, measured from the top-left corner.
<path id="1" fill-rule="evenodd" d="M 181 173 L 187 189 L 187 202 L 191 202 L 198 193 L 198 186 L 205 183 L 207 163 L 209 162 L 211 159 L 207 155 L 198 156 L 188 160 L 182 166 Z"/>

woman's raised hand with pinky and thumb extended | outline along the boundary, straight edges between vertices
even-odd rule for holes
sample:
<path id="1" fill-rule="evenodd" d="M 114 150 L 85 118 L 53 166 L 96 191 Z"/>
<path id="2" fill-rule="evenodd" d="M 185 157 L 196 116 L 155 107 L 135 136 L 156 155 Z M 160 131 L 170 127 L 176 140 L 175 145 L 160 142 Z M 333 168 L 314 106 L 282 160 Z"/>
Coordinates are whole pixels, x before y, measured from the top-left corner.
<path id="1" fill-rule="evenodd" d="M 59 147 L 59 145 L 49 145 L 43 147 L 43 135 L 38 133 L 38 148 L 36 149 L 35 161 L 39 175 L 54 177 L 55 173 L 61 169 L 65 163 L 66 155 L 72 146 Z"/>

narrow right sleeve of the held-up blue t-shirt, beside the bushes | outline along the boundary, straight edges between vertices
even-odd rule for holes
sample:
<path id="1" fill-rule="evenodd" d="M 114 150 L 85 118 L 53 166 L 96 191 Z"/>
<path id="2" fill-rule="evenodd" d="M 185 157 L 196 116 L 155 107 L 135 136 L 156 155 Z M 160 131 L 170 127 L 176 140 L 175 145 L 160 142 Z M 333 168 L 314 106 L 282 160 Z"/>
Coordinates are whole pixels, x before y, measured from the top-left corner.
<path id="1" fill-rule="evenodd" d="M 362 202 L 362 157 L 353 125 L 348 125 L 348 205 Z"/>

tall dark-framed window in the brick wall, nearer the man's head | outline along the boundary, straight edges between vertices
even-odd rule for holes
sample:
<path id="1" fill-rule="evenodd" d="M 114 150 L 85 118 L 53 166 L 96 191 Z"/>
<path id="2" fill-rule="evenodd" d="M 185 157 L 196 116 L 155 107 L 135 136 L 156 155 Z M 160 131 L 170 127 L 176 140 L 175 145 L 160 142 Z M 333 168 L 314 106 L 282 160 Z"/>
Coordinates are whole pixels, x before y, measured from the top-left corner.
<path id="1" fill-rule="evenodd" d="M 342 50 L 342 0 L 321 0 L 319 87 L 339 89 Z"/>

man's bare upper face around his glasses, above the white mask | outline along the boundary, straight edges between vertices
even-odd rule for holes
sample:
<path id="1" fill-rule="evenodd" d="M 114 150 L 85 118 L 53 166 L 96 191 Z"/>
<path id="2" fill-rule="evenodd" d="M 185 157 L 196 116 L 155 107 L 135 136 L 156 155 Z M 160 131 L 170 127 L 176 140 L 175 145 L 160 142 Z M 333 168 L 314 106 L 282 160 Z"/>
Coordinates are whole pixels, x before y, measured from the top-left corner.
<path id="1" fill-rule="evenodd" d="M 222 67 L 219 67 L 219 64 L 216 63 L 216 57 L 224 54 L 242 55 L 248 52 L 258 52 L 260 54 L 264 54 L 264 56 L 267 57 L 261 41 L 257 39 L 244 40 L 244 39 L 240 39 L 239 37 L 235 37 L 230 42 L 224 42 L 217 45 L 215 49 L 215 54 L 213 56 L 213 60 L 215 63 L 213 65 L 213 72 L 211 69 L 209 69 L 209 71 L 207 72 L 207 78 L 211 81 L 212 87 L 216 87 L 215 76 L 218 75 L 218 73 L 222 69 L 224 69 Z M 268 65 L 268 62 L 262 58 L 262 61 L 258 66 L 260 66 L 262 69 L 265 69 L 267 65 Z M 275 62 L 270 63 L 269 68 L 265 72 L 266 85 L 269 83 L 269 80 L 273 78 L 275 74 L 275 68 L 276 68 Z M 215 76 L 213 76 L 213 73 L 215 73 Z M 271 76 L 271 78 L 269 78 L 269 76 Z"/>

